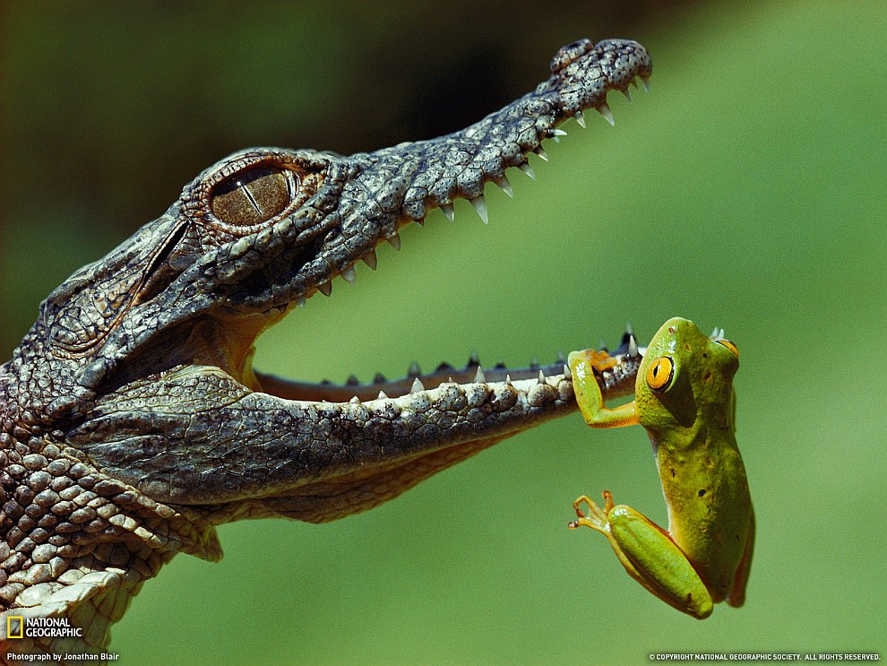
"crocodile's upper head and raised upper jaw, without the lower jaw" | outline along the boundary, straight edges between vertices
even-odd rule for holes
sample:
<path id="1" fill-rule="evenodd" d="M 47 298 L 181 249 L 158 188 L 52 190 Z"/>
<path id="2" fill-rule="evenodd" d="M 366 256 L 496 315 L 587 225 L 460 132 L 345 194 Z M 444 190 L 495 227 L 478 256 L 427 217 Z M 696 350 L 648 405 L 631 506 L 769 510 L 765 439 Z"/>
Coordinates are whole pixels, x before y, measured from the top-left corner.
<path id="1" fill-rule="evenodd" d="M 607 92 L 646 82 L 650 58 L 633 41 L 582 39 L 558 51 L 551 71 L 530 94 L 429 141 L 349 157 L 269 148 L 220 160 L 48 298 L 51 350 L 78 359 L 74 384 L 92 392 L 195 359 L 262 388 L 250 350 L 265 327 L 329 296 L 335 278 L 353 281 L 357 261 L 375 268 L 375 247 L 400 247 L 398 230 L 434 208 L 452 216 L 464 197 L 486 221 L 487 182 L 510 192 L 506 169 L 531 174 L 527 155 L 544 154 L 564 118 L 587 108 L 610 117 Z"/>

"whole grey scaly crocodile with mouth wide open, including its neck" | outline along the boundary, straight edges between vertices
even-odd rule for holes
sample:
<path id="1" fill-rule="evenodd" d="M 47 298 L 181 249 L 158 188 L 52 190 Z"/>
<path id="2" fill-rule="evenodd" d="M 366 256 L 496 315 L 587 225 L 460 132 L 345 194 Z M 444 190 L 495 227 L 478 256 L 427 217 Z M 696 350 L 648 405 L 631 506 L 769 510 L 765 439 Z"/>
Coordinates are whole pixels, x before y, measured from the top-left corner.
<path id="1" fill-rule="evenodd" d="M 353 282 L 357 261 L 375 269 L 375 248 L 431 210 L 452 219 L 467 198 L 486 222 L 487 182 L 511 194 L 506 169 L 533 176 L 530 152 L 584 110 L 612 123 L 607 92 L 650 72 L 637 42 L 581 39 L 534 91 L 453 134 L 349 157 L 238 151 L 54 290 L 0 367 L 0 662 L 100 661 L 164 564 L 221 557 L 217 525 L 365 511 L 574 411 L 563 363 L 311 384 L 255 371 L 254 342 Z M 641 354 L 624 336 L 607 397 L 632 392 Z"/>

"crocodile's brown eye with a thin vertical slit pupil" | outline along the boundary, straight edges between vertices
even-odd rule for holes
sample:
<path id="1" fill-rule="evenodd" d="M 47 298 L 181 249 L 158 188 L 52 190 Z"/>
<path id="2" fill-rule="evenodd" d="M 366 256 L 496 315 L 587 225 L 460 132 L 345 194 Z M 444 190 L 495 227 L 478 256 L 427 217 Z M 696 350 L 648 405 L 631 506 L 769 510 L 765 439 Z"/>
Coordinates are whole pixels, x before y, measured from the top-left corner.
<path id="1" fill-rule="evenodd" d="M 296 177 L 272 167 L 246 169 L 212 190 L 213 214 L 227 224 L 248 227 L 270 220 L 287 207 L 298 187 Z"/>

